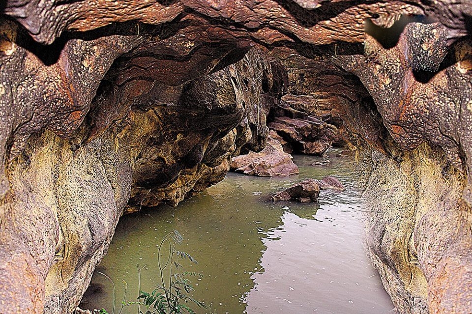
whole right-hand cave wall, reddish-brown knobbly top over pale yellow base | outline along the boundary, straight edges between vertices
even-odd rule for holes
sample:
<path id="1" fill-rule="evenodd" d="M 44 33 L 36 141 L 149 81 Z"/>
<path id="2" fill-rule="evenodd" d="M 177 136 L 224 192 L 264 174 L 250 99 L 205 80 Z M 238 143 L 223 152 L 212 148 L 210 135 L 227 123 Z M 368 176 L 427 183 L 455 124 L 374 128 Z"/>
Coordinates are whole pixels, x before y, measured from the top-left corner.
<path id="1" fill-rule="evenodd" d="M 395 47 L 385 49 L 367 35 L 366 56 L 339 61 L 368 88 L 395 141 L 391 158 L 376 163 L 371 182 L 383 181 L 388 187 L 396 176 L 401 190 L 409 191 L 408 184 L 412 184 L 417 191 L 386 193 L 390 200 L 382 198 L 381 202 L 401 201 L 388 214 L 371 204 L 373 258 L 385 282 L 399 281 L 406 286 L 389 287 L 402 313 L 424 313 L 428 307 L 430 313 L 470 311 L 466 309 L 470 309 L 472 297 L 472 254 L 467 248 L 472 238 L 464 236 L 469 231 L 463 227 L 470 224 L 471 212 L 471 160 L 467 156 L 472 147 L 472 46 L 470 40 L 463 40 L 446 56 L 446 44 L 446 30 L 440 24 L 411 23 Z M 437 147 L 444 159 L 436 153 Z M 391 168 L 393 164 L 398 165 L 397 170 Z M 370 186 L 370 190 L 372 198 L 386 192 L 382 187 Z M 447 197 L 442 197 L 444 190 L 449 191 Z M 400 194 L 414 197 L 406 200 Z M 402 218 L 397 219 L 399 216 Z M 388 227 L 392 225 L 403 226 L 402 235 L 398 228 Z M 457 239 L 454 245 L 452 238 Z"/>

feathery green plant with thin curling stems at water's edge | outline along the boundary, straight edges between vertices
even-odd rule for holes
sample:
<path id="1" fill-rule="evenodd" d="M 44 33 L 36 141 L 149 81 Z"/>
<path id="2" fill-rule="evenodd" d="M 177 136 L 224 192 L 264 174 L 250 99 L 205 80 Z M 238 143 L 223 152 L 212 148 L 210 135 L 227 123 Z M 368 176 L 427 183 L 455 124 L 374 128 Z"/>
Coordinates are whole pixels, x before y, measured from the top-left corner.
<path id="1" fill-rule="evenodd" d="M 169 255 L 167 256 L 167 261 L 163 266 L 161 264 L 161 250 L 166 243 L 169 245 Z M 138 301 L 126 301 L 128 285 L 123 281 L 125 284 L 125 293 L 118 314 L 121 314 L 124 308 L 132 305 L 138 306 L 138 314 L 194 314 L 195 311 L 187 305 L 189 301 L 195 303 L 198 307 L 207 309 L 207 305 L 204 302 L 195 300 L 189 295 L 195 290 L 195 288 L 191 285 L 191 281 L 188 279 L 188 277 L 203 277 L 203 275 L 195 272 L 187 272 L 179 263 L 181 259 L 188 259 L 189 261 L 198 264 L 195 258 L 176 249 L 177 245 L 181 245 L 182 243 L 183 237 L 177 230 L 168 233 L 162 239 L 161 244 L 159 245 L 157 259 L 157 264 L 161 275 L 160 285 L 155 286 L 155 289 L 151 292 L 141 290 L 141 271 L 147 265 L 142 268 L 139 268 L 139 266 L 136 265 L 138 268 Z M 164 275 L 166 270 L 169 272 L 168 276 Z M 180 271 L 180 273 L 178 271 Z M 115 284 L 107 275 L 103 273 L 100 274 L 112 282 L 114 295 L 112 314 L 115 314 Z M 141 307 L 144 307 L 145 312 L 141 311 Z M 94 313 L 109 314 L 105 309 L 95 310 Z"/>

